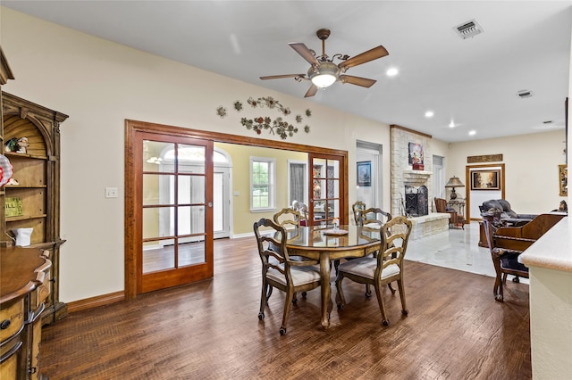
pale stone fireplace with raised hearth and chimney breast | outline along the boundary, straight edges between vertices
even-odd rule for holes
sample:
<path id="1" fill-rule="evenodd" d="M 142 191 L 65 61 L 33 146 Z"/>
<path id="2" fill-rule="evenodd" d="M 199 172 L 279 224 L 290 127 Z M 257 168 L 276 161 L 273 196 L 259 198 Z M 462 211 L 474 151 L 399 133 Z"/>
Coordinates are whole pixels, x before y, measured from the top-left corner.
<path id="1" fill-rule="evenodd" d="M 391 125 L 391 215 L 406 215 L 411 239 L 449 230 L 449 214 L 433 212 L 432 136 Z M 423 146 L 424 169 L 409 163 L 409 143 Z"/>

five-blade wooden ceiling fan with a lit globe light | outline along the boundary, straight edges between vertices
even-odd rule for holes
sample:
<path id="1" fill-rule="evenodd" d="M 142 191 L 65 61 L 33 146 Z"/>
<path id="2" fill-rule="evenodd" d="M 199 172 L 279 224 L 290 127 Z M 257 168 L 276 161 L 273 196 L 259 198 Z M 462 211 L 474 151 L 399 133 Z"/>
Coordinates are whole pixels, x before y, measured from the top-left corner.
<path id="1" fill-rule="evenodd" d="M 349 58 L 349 55 L 347 54 L 334 54 L 332 58 L 330 58 L 327 54 L 325 54 L 325 40 L 330 37 L 330 29 L 319 29 L 315 32 L 315 35 L 322 40 L 322 55 L 316 56 L 314 50 L 308 49 L 307 46 L 301 42 L 291 42 L 288 44 L 292 47 L 292 49 L 296 50 L 296 52 L 300 54 L 302 58 L 304 58 L 312 65 L 310 69 L 307 70 L 307 74 L 271 75 L 260 78 L 263 80 L 294 78 L 299 82 L 301 82 L 302 79 L 311 80 L 312 86 L 308 88 L 304 97 L 314 96 L 318 88 L 331 86 L 336 81 L 361 87 L 372 87 L 374 85 L 376 82 L 374 79 L 354 77 L 351 75 L 346 75 L 345 72 L 351 67 L 374 61 L 389 55 L 387 50 L 385 50 L 385 47 L 379 45 L 371 50 L 368 50 L 362 54 L 357 54 L 351 58 Z M 333 63 L 334 59 L 338 59 L 341 62 L 339 64 L 335 64 Z"/>

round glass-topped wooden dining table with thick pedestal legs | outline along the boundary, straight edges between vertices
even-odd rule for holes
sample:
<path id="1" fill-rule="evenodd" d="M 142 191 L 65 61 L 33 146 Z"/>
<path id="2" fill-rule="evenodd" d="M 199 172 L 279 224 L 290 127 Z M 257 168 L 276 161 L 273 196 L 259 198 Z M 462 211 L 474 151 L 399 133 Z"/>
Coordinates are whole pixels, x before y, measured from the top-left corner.
<path id="1" fill-rule="evenodd" d="M 286 248 L 290 256 L 318 260 L 322 292 L 322 321 L 324 328 L 330 326 L 332 311 L 332 260 L 347 257 L 363 257 L 379 249 L 380 227 L 368 226 L 318 226 L 297 227 L 287 230 Z"/>

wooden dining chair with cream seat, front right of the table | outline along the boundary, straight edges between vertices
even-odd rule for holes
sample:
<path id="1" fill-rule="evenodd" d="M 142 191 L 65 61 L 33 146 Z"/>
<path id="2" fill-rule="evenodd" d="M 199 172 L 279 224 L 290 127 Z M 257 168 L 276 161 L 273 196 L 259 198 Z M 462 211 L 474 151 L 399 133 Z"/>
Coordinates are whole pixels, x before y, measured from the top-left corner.
<path id="1" fill-rule="evenodd" d="M 381 242 L 377 257 L 366 256 L 340 264 L 336 278 L 338 309 L 341 310 L 346 304 L 341 286 L 344 278 L 347 277 L 360 284 L 373 285 L 379 309 L 382 311 L 383 326 L 389 326 L 382 290 L 383 285 L 397 281 L 400 290 L 401 313 L 405 316 L 408 315 L 403 285 L 403 259 L 407 252 L 410 234 L 411 221 L 409 219 L 402 216 L 393 218 L 380 229 Z"/>

